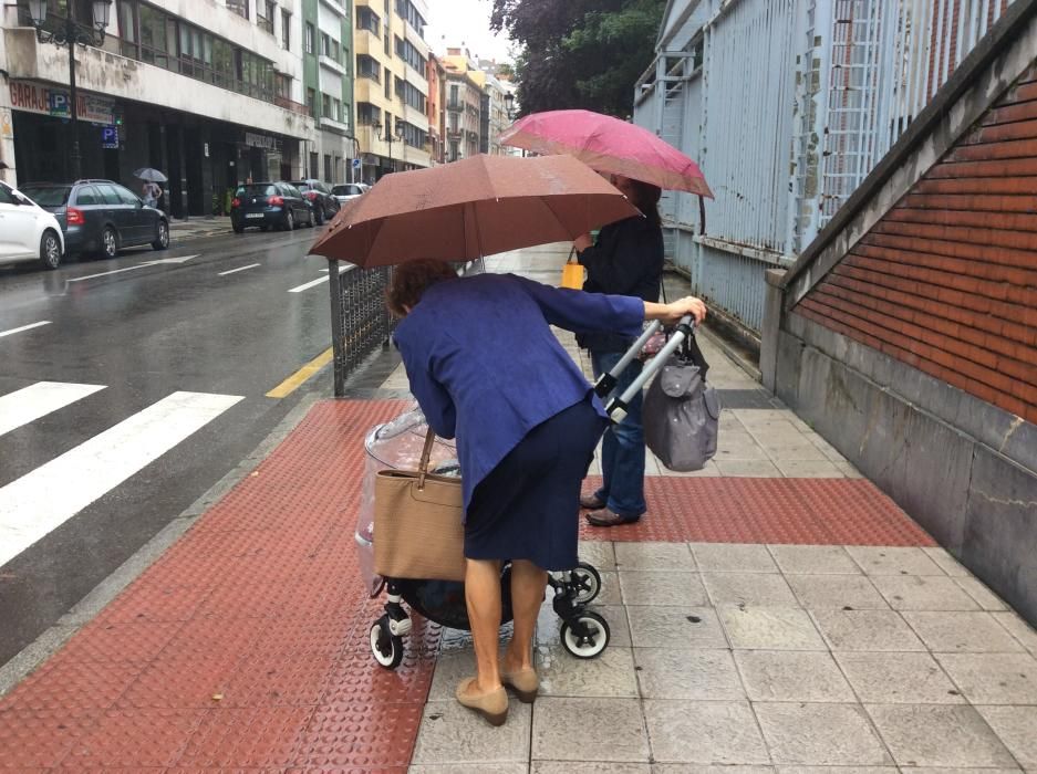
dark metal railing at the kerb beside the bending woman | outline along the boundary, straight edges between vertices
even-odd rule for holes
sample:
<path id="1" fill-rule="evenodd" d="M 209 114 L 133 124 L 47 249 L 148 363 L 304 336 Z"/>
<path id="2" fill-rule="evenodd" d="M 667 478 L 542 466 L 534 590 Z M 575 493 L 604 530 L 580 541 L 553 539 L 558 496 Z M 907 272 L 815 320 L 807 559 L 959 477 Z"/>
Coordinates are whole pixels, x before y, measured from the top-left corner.
<path id="1" fill-rule="evenodd" d="M 345 380 L 378 347 L 388 344 L 395 320 L 385 305 L 392 266 L 357 269 L 328 259 L 335 397 Z"/>

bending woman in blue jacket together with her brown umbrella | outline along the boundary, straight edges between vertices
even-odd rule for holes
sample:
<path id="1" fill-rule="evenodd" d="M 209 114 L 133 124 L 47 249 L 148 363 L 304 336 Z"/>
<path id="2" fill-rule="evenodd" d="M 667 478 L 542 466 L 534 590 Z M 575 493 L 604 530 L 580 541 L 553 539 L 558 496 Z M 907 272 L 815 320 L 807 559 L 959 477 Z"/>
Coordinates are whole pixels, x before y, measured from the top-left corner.
<path id="1" fill-rule="evenodd" d="M 580 485 L 606 423 L 550 326 L 633 335 L 645 320 L 701 320 L 705 306 L 558 290 L 514 274 L 458 279 L 444 261 L 571 240 L 631 215 L 619 191 L 574 159 L 477 156 L 383 178 L 311 250 L 401 264 L 387 293 L 401 318 L 396 346 L 429 427 L 456 437 L 463 473 L 476 674 L 455 695 L 495 725 L 507 719 L 505 686 L 523 701 L 537 694 L 532 636 L 547 571 L 577 564 Z M 498 662 L 508 559 L 515 631 Z"/>

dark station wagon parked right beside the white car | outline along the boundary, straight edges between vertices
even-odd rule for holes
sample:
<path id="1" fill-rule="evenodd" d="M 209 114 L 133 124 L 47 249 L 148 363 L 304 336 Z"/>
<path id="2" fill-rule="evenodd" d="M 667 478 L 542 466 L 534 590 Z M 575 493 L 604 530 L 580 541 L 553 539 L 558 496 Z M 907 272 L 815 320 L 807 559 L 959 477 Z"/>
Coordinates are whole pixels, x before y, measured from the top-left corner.
<path id="1" fill-rule="evenodd" d="M 169 247 L 165 212 L 145 206 L 141 197 L 112 180 L 29 182 L 19 190 L 58 219 L 66 254 L 97 252 L 115 258 L 122 248 Z"/>

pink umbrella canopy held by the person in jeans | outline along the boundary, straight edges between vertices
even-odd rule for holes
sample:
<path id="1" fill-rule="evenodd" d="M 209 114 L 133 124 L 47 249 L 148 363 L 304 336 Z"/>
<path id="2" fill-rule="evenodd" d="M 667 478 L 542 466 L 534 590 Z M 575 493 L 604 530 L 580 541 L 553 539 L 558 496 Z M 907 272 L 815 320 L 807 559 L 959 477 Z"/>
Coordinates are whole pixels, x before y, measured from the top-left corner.
<path id="1" fill-rule="evenodd" d="M 506 129 L 500 142 L 543 155 L 568 154 L 599 171 L 713 198 L 695 161 L 647 129 L 600 113 L 532 113 Z"/>

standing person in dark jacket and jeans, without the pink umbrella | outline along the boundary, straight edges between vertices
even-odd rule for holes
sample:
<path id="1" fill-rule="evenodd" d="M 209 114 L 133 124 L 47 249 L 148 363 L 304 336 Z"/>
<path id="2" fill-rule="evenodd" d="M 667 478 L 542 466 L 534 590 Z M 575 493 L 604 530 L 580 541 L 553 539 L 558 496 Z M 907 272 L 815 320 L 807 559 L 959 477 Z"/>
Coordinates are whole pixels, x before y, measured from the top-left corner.
<path id="1" fill-rule="evenodd" d="M 619 188 L 643 215 L 605 226 L 591 243 L 590 236 L 577 239 L 579 261 L 587 269 L 583 290 L 589 293 L 618 293 L 657 302 L 663 276 L 663 231 L 660 228 L 659 198 L 662 191 L 640 180 L 615 175 Z M 601 331 L 577 336 L 590 351 L 594 377 L 610 372 L 636 336 Z M 622 395 L 641 373 L 634 360 L 620 375 L 613 395 Z M 594 526 L 629 524 L 647 510 L 644 499 L 644 425 L 642 397 L 630 401 L 626 418 L 605 430 L 601 449 L 601 488 L 580 499 Z"/>

